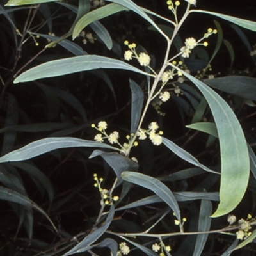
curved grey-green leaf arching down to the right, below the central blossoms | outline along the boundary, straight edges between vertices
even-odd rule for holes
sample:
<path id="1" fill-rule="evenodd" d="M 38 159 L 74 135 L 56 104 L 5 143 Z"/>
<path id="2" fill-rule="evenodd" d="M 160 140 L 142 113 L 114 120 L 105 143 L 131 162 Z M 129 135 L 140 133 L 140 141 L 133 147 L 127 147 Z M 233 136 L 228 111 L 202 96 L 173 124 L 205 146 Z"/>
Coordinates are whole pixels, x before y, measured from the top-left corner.
<path id="1" fill-rule="evenodd" d="M 172 191 L 165 186 L 160 180 L 148 175 L 136 172 L 122 172 L 122 179 L 134 183 L 143 188 L 152 190 L 159 196 L 170 208 L 175 212 L 175 216 L 180 221 L 180 209 L 177 200 L 173 196 Z"/>

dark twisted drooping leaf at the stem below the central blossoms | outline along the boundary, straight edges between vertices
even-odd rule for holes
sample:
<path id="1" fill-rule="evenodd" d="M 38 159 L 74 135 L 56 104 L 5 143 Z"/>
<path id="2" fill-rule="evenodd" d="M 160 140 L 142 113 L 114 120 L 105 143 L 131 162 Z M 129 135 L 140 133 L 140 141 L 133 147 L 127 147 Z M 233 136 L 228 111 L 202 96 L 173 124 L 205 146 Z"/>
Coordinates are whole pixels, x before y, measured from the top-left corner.
<path id="1" fill-rule="evenodd" d="M 94 150 L 92 155 L 89 158 L 93 158 L 95 156 L 101 156 L 108 164 L 113 168 L 118 182 L 116 186 L 118 186 L 121 182 L 121 173 L 124 171 L 132 171 L 138 172 L 138 163 L 132 161 L 131 159 L 124 157 L 117 152 L 107 153 L 102 150 Z"/>

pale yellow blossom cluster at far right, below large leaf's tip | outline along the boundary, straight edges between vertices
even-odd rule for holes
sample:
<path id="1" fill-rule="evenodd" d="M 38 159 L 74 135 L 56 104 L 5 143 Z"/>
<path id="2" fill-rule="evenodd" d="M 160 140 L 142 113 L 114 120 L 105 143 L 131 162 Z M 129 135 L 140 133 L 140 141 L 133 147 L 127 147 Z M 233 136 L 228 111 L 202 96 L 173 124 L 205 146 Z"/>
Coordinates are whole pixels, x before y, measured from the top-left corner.
<path id="1" fill-rule="evenodd" d="M 236 222 L 236 216 L 228 215 L 227 221 L 230 225 L 234 224 Z M 236 232 L 237 239 L 244 240 L 252 234 L 252 232 L 249 231 L 252 228 L 251 226 L 252 221 L 255 221 L 255 219 L 252 218 L 251 214 L 248 214 L 246 220 L 242 218 L 238 221 L 239 230 Z"/>

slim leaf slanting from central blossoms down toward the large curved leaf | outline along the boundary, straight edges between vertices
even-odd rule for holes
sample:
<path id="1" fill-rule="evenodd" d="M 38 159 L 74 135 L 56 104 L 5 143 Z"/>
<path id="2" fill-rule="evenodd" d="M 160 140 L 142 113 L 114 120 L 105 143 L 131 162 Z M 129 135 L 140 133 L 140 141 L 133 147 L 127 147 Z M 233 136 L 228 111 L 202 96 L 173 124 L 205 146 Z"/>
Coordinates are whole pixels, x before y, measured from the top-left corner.
<path id="1" fill-rule="evenodd" d="M 163 144 L 166 145 L 166 147 L 168 147 L 174 154 L 176 154 L 180 158 L 184 159 L 188 163 L 194 164 L 195 166 L 198 166 L 207 172 L 220 174 L 218 172 L 212 171 L 208 167 L 204 166 L 204 164 L 200 164 L 195 157 L 193 157 L 191 154 L 189 154 L 189 152 L 180 148 L 178 145 L 176 145 L 175 143 L 173 143 L 172 141 L 170 141 L 164 137 L 163 137 Z"/>

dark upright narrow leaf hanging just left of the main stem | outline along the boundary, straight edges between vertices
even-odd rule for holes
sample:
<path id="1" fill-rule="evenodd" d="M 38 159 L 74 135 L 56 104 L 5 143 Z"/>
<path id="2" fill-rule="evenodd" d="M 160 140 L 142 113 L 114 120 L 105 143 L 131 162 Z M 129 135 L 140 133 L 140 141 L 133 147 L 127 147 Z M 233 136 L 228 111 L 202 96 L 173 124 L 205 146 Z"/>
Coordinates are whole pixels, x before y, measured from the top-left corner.
<path id="1" fill-rule="evenodd" d="M 141 110 L 143 106 L 144 94 L 134 81 L 130 80 L 132 92 L 132 111 L 131 111 L 131 134 L 135 133 L 140 122 Z"/>

